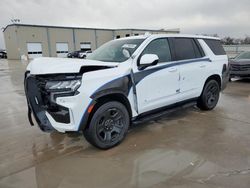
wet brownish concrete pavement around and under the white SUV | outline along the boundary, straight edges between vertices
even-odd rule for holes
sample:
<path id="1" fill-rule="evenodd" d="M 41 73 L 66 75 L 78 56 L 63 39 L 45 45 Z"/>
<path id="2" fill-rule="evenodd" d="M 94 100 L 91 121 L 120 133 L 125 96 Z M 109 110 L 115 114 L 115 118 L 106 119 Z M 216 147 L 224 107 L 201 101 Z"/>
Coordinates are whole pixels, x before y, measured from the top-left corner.
<path id="1" fill-rule="evenodd" d="M 250 187 L 250 81 L 235 81 L 217 108 L 190 108 L 133 127 L 108 151 L 79 133 L 31 127 L 27 63 L 0 60 L 0 187 Z"/>

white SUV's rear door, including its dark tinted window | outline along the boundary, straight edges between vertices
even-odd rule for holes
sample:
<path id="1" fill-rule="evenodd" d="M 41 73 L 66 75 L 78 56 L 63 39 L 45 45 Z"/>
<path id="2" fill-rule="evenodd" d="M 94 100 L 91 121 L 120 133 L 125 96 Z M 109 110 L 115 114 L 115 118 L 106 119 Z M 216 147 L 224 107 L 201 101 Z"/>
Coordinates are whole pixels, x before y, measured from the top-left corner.
<path id="1" fill-rule="evenodd" d="M 172 38 L 175 60 L 180 69 L 179 101 L 198 97 L 207 77 L 208 58 L 193 38 Z"/>

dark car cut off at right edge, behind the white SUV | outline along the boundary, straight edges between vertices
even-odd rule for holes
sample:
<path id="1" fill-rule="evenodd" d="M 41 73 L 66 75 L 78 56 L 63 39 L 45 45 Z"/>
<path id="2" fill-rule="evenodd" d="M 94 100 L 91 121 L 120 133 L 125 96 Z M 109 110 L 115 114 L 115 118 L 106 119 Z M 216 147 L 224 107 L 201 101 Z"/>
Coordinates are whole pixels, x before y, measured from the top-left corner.
<path id="1" fill-rule="evenodd" d="M 231 78 L 250 78 L 250 52 L 243 52 L 229 61 Z"/>

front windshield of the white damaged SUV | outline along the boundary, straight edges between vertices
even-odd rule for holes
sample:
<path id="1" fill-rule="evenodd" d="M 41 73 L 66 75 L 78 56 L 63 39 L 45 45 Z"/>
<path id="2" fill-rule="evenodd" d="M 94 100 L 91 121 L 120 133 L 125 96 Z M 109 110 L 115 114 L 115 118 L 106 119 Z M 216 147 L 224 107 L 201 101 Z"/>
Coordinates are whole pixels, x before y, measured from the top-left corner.
<path id="1" fill-rule="evenodd" d="M 123 53 L 123 49 L 132 55 L 141 45 L 144 39 L 113 40 L 97 48 L 87 59 L 105 62 L 124 62 L 129 57 Z"/>

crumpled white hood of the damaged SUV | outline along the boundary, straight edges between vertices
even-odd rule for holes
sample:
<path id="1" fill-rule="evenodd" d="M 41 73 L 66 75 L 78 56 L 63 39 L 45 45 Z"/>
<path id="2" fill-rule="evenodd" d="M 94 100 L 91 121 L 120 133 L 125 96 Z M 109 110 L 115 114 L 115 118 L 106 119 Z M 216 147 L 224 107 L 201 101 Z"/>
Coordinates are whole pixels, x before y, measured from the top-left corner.
<path id="1" fill-rule="evenodd" d="M 68 59 L 68 58 L 36 58 L 29 63 L 27 70 L 30 74 L 60 74 L 78 73 L 83 66 L 108 66 L 115 67 L 119 63 L 101 62 L 89 59 Z"/>

